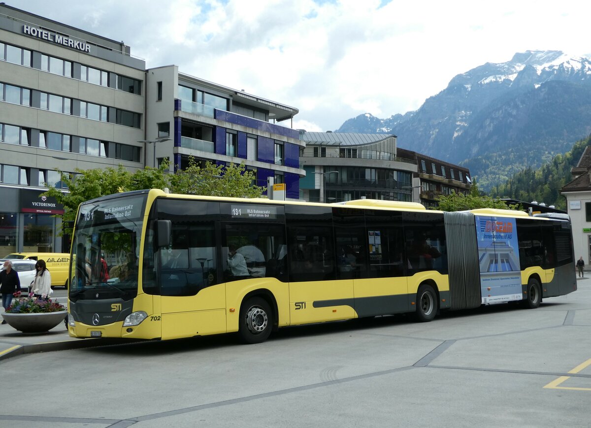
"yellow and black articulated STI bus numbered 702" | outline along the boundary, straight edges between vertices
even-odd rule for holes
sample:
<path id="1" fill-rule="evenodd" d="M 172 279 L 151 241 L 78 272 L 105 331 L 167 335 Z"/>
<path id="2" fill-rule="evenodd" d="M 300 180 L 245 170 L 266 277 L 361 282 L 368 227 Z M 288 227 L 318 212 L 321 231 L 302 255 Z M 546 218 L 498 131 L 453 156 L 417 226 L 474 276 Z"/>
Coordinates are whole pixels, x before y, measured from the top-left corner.
<path id="1" fill-rule="evenodd" d="M 80 205 L 70 260 L 79 338 L 238 332 L 256 343 L 307 323 L 535 308 L 577 288 L 566 215 L 378 200 L 113 194 Z"/>

